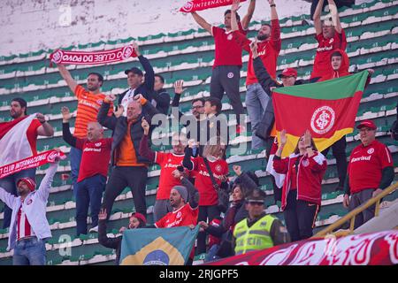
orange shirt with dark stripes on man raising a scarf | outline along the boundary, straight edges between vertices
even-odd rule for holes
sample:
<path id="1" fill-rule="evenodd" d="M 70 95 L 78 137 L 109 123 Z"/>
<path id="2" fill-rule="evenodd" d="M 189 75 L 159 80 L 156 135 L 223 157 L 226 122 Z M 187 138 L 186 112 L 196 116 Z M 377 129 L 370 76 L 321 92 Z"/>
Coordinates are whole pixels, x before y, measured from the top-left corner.
<path id="1" fill-rule="evenodd" d="M 93 94 L 78 85 L 74 90 L 74 95 L 78 99 L 76 121 L 74 123 L 74 136 L 84 139 L 87 136 L 87 125 L 89 122 L 96 122 L 96 115 L 103 103 L 104 94 Z M 111 106 L 108 116 L 111 116 L 113 107 Z"/>

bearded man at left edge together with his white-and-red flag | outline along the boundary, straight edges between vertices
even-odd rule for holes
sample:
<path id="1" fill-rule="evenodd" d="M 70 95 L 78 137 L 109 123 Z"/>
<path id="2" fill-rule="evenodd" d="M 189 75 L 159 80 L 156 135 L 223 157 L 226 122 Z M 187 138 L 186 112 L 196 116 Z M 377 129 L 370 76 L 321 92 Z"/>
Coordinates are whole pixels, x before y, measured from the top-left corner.
<path id="1" fill-rule="evenodd" d="M 52 136 L 54 129 L 41 113 L 27 115 L 27 102 L 19 97 L 12 99 L 12 121 L 0 123 L 1 166 L 17 162 L 37 154 L 36 141 L 39 135 Z M 17 182 L 21 178 L 34 180 L 35 168 L 15 172 L 0 179 L 0 187 L 11 195 L 17 195 Z M 11 209 L 4 207 L 3 229 L 10 226 Z"/>

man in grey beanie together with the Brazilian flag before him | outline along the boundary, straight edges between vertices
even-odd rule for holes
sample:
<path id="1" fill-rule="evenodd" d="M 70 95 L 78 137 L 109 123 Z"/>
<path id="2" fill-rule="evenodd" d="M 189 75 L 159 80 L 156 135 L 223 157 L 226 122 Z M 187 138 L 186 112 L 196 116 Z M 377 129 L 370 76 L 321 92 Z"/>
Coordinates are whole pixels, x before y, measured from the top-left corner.
<path id="1" fill-rule="evenodd" d="M 174 170 L 171 177 L 181 182 L 181 186 L 172 187 L 170 192 L 172 211 L 154 225 L 145 227 L 168 228 L 170 231 L 168 229 L 126 230 L 123 233 L 121 265 L 191 265 L 193 263 L 195 255 L 193 245 L 199 231 L 199 226 L 196 226 L 199 192 L 188 178 L 184 177 L 182 166 Z"/>

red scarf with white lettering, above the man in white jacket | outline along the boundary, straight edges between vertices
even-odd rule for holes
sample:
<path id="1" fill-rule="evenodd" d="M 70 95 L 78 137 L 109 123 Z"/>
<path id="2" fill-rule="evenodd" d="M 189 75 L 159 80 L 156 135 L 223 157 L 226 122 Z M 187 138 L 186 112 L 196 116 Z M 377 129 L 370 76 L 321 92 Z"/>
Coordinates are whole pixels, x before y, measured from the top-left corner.
<path id="1" fill-rule="evenodd" d="M 58 156 L 61 159 L 66 158 L 62 151 L 52 149 L 39 153 L 33 157 L 27 157 L 14 163 L 6 164 L 0 167 L 0 179 L 22 170 L 35 168 L 42 166 L 43 164 L 54 162 L 54 159 Z"/>

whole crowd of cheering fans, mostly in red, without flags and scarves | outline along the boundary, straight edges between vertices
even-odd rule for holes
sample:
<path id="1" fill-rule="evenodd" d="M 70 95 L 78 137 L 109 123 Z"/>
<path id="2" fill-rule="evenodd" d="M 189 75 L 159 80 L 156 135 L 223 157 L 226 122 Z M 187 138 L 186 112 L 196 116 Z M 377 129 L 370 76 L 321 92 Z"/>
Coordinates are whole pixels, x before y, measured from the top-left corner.
<path id="1" fill-rule="evenodd" d="M 287 133 L 282 131 L 279 141 L 275 138 L 272 89 L 349 75 L 347 40 L 338 14 L 321 22 L 325 1 L 319 0 L 313 15 L 318 48 L 310 80 L 297 80 L 297 71 L 293 68 L 277 76 L 281 49 L 279 19 L 274 0 L 267 1 L 271 8 L 271 24 L 264 23 L 253 40 L 246 35 L 256 0 L 250 1 L 242 19 L 237 12 L 239 0 L 233 1 L 231 9 L 224 14 L 224 28 L 211 26 L 192 12 L 193 19 L 215 41 L 210 97 L 194 99 L 192 115 L 177 111 L 179 117 L 174 119 L 179 119 L 184 128 L 172 134 L 171 152 L 151 149 L 151 134 L 157 127 L 151 125 L 151 121 L 159 114 L 170 115 L 170 104 L 172 108 L 179 108 L 180 96 L 185 90 L 183 81 L 174 83 L 175 94 L 171 99 L 164 88 L 165 79 L 154 73 L 148 58 L 142 56 L 136 44 L 134 51 L 144 72 L 137 67 L 126 70 L 129 88 L 119 96 L 101 93 L 106 81 L 100 73 L 88 73 L 86 89 L 73 80 L 65 65 L 57 65 L 78 99 L 73 134 L 69 125 L 72 114 L 66 107 L 62 109 L 63 138 L 71 146 L 76 235 L 98 232 L 99 242 L 104 247 L 117 250 L 117 264 L 122 236 L 108 238 L 106 224 L 115 199 L 126 187 L 131 188 L 135 207 L 128 229 L 201 227 L 188 264 L 192 264 L 195 253 L 207 253 L 206 261 L 212 261 L 312 236 L 321 206 L 327 149 L 319 152 L 307 131 L 302 133 L 295 151 L 288 157 L 281 157 Z M 335 6 L 333 0 L 327 0 L 327 4 Z M 275 201 L 281 202 L 285 225 L 265 213 L 265 193 L 259 188 L 254 172 L 245 171 L 236 164 L 233 166 L 236 178 L 229 176 L 226 149 L 231 137 L 222 134 L 228 121 L 218 116 L 221 116 L 221 99 L 226 94 L 237 115 L 236 134 L 246 130 L 242 125 L 241 114 L 245 111 L 239 90 L 242 50 L 249 52 L 245 100 L 253 132 L 251 147 L 266 149 L 267 156 L 272 145 L 275 147 L 273 168 L 287 176 L 281 186 L 277 186 L 271 176 Z M 368 72 L 370 76 L 373 73 L 372 70 Z M 13 99 L 12 119 L 26 116 L 26 101 Z M 111 130 L 111 138 L 104 137 L 103 127 Z M 336 190 L 345 191 L 343 205 L 348 210 L 378 195 L 394 180 L 391 153 L 386 145 L 375 140 L 377 127 L 370 120 L 357 127 L 361 143 L 353 149 L 348 162 L 345 137 L 332 146 L 339 175 Z M 35 147 L 39 135 L 51 136 L 53 132 L 44 116 L 37 114 L 27 134 Z M 145 200 L 149 164 L 161 167 L 152 226 L 147 225 Z M 56 171 L 57 160 L 51 164 L 37 190 L 34 170 L 0 180 L 0 199 L 8 207 L 4 210 L 4 228 L 10 226 L 9 249 L 14 249 L 13 264 L 45 264 L 44 242 L 51 235 L 45 211 Z M 228 199 L 228 194 L 232 195 L 231 203 L 223 203 L 222 192 Z M 35 203 L 34 206 L 29 202 Z M 92 219 L 90 229 L 88 208 Z M 374 207 L 365 210 L 362 217 L 356 218 L 356 226 L 373 215 Z M 120 228 L 120 233 L 126 229 Z"/>

